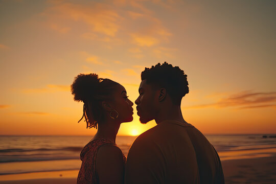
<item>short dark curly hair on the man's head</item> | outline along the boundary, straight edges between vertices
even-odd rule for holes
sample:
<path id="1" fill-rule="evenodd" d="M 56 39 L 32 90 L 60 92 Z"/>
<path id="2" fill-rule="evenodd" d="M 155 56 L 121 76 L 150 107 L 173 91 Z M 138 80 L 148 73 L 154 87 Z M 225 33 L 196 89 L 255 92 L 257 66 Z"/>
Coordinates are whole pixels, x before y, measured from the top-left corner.
<path id="1" fill-rule="evenodd" d="M 145 68 L 141 73 L 141 80 L 155 88 L 164 87 L 176 105 L 180 105 L 182 97 L 189 93 L 187 75 L 178 66 L 167 62 Z"/>

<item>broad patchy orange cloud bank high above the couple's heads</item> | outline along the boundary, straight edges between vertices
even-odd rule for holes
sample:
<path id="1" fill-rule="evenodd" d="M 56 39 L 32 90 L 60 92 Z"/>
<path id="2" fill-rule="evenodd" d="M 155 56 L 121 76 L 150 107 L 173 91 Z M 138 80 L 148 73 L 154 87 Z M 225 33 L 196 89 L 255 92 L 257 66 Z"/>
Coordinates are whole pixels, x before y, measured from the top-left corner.
<path id="1" fill-rule="evenodd" d="M 163 7 L 173 5 L 171 1 L 113 1 L 115 6 L 102 2 L 89 2 L 85 5 L 52 2 L 52 7 L 41 15 L 46 17 L 50 29 L 60 33 L 76 31 L 84 39 L 99 41 L 104 45 L 108 42 L 110 48 L 110 42 L 120 45 L 126 41 L 139 47 L 152 47 L 163 41 L 168 42 L 172 33 L 155 17 L 154 11 L 146 8 L 149 3 Z M 134 20 L 143 22 L 143 25 L 137 26 L 139 24 Z M 76 27 L 81 29 L 73 30 Z M 140 54 L 134 57 L 144 56 Z"/>

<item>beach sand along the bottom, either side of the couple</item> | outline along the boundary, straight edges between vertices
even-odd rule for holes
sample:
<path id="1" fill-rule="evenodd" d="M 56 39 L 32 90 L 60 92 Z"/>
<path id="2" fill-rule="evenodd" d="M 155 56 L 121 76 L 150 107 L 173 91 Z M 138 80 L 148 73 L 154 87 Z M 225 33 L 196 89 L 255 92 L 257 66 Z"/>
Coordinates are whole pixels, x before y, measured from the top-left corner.
<path id="1" fill-rule="evenodd" d="M 276 183 L 276 156 L 222 160 L 225 183 Z M 68 183 L 77 182 L 78 171 L 55 171 L 0 176 L 0 184 Z M 31 179 L 32 178 L 32 179 Z"/>

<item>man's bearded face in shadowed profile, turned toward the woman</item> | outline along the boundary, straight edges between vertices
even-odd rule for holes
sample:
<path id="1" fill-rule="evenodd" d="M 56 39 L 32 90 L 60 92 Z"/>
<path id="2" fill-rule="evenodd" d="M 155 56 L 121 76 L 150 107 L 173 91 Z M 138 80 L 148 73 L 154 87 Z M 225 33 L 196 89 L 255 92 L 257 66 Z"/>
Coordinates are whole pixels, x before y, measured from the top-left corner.
<path id="1" fill-rule="evenodd" d="M 140 117 L 140 122 L 143 124 L 153 120 L 156 116 L 157 109 L 155 108 L 157 90 L 147 84 L 146 80 L 142 80 L 139 87 L 139 97 L 135 100 L 137 105 L 137 115 Z"/>

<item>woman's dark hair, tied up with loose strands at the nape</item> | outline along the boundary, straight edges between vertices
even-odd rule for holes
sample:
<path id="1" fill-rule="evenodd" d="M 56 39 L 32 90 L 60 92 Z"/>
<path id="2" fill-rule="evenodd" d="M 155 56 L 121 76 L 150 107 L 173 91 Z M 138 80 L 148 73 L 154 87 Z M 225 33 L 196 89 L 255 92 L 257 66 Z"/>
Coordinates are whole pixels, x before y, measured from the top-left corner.
<path id="1" fill-rule="evenodd" d="M 71 85 L 74 100 L 83 104 L 83 115 L 79 122 L 85 118 L 86 128 L 95 127 L 99 121 L 104 119 L 102 102 L 112 100 L 115 87 L 119 83 L 110 79 L 98 78 L 97 74 L 80 74 L 75 77 Z"/>

